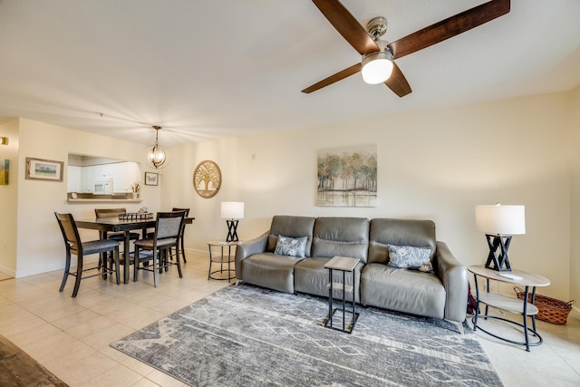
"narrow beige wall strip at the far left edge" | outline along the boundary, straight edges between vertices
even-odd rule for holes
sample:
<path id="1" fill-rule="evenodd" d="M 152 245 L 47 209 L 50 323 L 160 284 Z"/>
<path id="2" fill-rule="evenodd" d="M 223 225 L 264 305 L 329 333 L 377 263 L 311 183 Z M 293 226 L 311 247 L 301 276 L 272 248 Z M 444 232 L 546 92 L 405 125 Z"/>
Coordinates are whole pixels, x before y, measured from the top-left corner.
<path id="1" fill-rule="evenodd" d="M 0 136 L 8 138 L 0 145 L 0 160 L 9 160 L 8 185 L 0 186 L 0 270 L 10 276 L 16 273 L 16 227 L 18 203 L 18 120 L 0 125 Z"/>

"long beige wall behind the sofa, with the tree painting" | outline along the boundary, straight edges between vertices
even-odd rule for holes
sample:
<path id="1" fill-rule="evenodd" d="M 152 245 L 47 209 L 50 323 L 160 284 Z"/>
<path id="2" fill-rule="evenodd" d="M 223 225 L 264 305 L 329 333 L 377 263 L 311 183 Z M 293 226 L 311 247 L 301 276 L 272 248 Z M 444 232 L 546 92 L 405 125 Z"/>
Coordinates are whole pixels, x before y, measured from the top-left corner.
<path id="1" fill-rule="evenodd" d="M 430 218 L 437 224 L 438 238 L 461 262 L 480 264 L 488 247 L 475 230 L 474 207 L 523 204 L 527 234 L 512 241 L 512 266 L 550 278 L 552 285 L 543 293 L 566 298 L 568 100 L 569 95 L 558 93 L 208 141 L 170 150 L 183 163 L 171 166 L 170 172 L 168 168 L 164 178 L 170 185 L 189 180 L 185 191 L 173 192 L 171 200 L 193 208 L 197 220 L 188 230 L 187 244 L 199 250 L 207 248 L 208 239 L 225 237 L 219 203 L 235 199 L 246 203 L 246 218 L 238 229 L 242 239 L 266 231 L 275 214 Z M 377 207 L 315 207 L 316 151 L 368 143 L 378 146 Z M 223 186 L 216 197 L 201 199 L 190 179 L 196 164 L 206 159 L 218 162 Z"/>

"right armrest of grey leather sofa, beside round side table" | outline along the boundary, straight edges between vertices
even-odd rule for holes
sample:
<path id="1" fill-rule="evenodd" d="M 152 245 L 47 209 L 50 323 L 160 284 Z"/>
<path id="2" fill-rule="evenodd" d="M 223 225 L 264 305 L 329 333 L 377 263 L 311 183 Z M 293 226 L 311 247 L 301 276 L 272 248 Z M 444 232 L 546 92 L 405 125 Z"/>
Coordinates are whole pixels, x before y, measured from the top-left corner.
<path id="1" fill-rule="evenodd" d="M 444 242 L 437 242 L 436 270 L 445 287 L 445 319 L 462 323 L 467 314 L 468 271 L 451 254 Z"/>

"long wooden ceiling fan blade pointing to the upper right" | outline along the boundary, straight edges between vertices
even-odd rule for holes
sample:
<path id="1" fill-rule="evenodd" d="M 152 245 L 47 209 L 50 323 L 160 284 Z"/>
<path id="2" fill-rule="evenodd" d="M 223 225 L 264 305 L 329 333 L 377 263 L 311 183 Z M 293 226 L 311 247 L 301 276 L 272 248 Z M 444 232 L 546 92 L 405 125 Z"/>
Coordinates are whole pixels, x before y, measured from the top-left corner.
<path id="1" fill-rule="evenodd" d="M 478 25 L 486 24 L 501 15 L 506 15 L 509 12 L 509 2 L 510 0 L 491 0 L 392 42 L 388 45 L 392 57 L 398 59 L 415 53 Z"/>

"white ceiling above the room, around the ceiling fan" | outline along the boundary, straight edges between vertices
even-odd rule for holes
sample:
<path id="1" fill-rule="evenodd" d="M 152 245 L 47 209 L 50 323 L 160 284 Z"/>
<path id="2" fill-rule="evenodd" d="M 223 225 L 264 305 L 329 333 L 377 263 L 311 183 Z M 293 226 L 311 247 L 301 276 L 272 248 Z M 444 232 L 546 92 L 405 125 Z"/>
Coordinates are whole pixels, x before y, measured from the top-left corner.
<path id="1" fill-rule="evenodd" d="M 343 0 L 395 41 L 482 0 Z M 0 0 L 0 117 L 150 144 L 332 125 L 580 84 L 580 1 L 512 0 L 509 14 L 397 61 L 399 98 L 309 0 Z M 102 112 L 103 115 L 97 114 Z M 140 122 L 140 123 L 139 123 Z"/>

